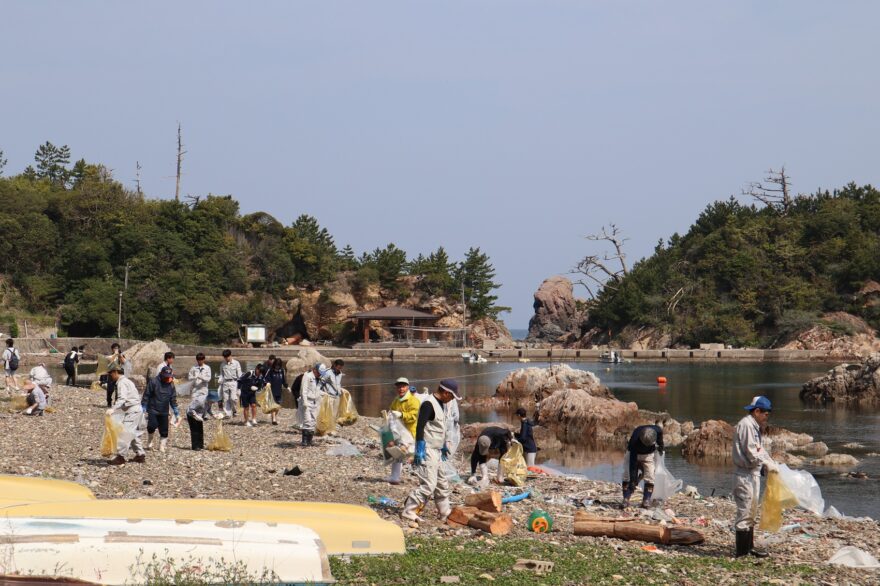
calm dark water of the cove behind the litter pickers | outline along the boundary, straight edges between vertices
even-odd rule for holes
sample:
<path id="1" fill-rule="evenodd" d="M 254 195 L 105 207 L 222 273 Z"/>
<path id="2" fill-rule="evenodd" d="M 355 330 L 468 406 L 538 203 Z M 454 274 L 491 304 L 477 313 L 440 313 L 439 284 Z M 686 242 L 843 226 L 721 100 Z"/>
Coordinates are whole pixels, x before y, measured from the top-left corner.
<path id="1" fill-rule="evenodd" d="M 63 371 L 54 364 L 49 366 L 56 380 L 63 381 Z M 253 365 L 242 366 L 250 368 Z M 466 396 L 488 396 L 495 392 L 507 373 L 524 366 L 546 367 L 548 363 L 349 362 L 343 383 L 352 391 L 360 413 L 377 416 L 393 400 L 393 381 L 397 377 L 405 376 L 414 385 L 432 389 L 440 379 L 452 377 L 459 381 Z M 856 470 L 868 474 L 868 480 L 857 480 L 842 477 L 840 471 L 807 466 L 822 487 L 826 505 L 834 505 L 847 515 L 880 518 L 880 457 L 867 455 L 880 453 L 880 411 L 807 407 L 798 398 L 801 385 L 825 373 L 831 364 L 634 362 L 608 365 L 578 362 L 571 363 L 571 366 L 594 372 L 618 399 L 635 401 L 643 409 L 667 411 L 679 421 L 699 423 L 722 419 L 735 424 L 745 414 L 743 406 L 753 396 L 766 395 L 773 402 L 771 421 L 774 424 L 808 433 L 816 441 L 828 444 L 833 452 L 854 455 L 860 460 Z M 659 388 L 655 382 L 661 375 L 669 381 L 665 388 Z M 462 417 L 466 423 L 514 422 L 516 419 L 506 410 L 463 410 Z M 843 447 L 851 442 L 864 447 Z M 621 478 L 622 461 L 622 449 L 595 452 L 572 446 L 564 451 L 538 453 L 538 462 L 588 478 L 614 482 Z M 716 495 L 730 494 L 732 480 L 728 467 L 690 464 L 677 449 L 669 451 L 667 465 L 673 475 L 686 484 L 695 485 L 702 494 L 713 491 Z"/>

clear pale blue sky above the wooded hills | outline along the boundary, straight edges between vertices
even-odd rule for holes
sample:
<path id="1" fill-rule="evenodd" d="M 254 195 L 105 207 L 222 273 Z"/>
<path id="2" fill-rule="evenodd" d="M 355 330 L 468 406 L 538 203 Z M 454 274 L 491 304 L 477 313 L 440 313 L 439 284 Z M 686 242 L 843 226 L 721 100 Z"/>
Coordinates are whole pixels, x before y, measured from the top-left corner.
<path id="1" fill-rule="evenodd" d="M 880 3 L 48 2 L 0 10 L 6 174 L 45 141 L 148 197 L 341 248 L 489 254 L 512 328 L 614 223 L 628 261 L 785 165 L 878 182 Z M 583 289 L 576 290 L 586 296 Z"/>

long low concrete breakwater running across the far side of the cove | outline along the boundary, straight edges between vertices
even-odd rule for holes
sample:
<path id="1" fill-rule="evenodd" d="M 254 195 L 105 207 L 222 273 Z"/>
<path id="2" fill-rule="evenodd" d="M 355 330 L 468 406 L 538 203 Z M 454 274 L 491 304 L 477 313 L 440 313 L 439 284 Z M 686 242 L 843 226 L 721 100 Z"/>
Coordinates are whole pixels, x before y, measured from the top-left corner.
<path id="1" fill-rule="evenodd" d="M 122 348 L 129 348 L 141 340 L 116 338 L 18 338 L 16 347 L 23 354 L 47 354 L 57 350 L 62 355 L 72 346 L 85 345 L 87 354 L 109 354 L 110 345 L 119 342 Z M 209 360 L 219 359 L 222 347 L 201 346 L 193 344 L 169 343 L 171 351 L 178 356 L 195 356 L 203 352 Z M 263 348 L 231 347 L 236 356 L 242 358 L 265 358 L 274 354 L 282 359 L 291 358 L 299 353 L 301 346 L 278 346 Z M 333 346 L 315 346 L 318 352 L 327 358 L 342 358 L 351 361 L 459 361 L 462 348 L 338 348 Z M 510 348 L 498 350 L 480 350 L 477 352 L 490 361 L 516 362 L 528 360 L 533 362 L 597 362 L 604 349 L 569 349 L 569 348 Z M 624 360 L 688 362 L 846 362 L 860 360 L 859 356 L 831 355 L 823 350 L 779 350 L 779 349 L 660 349 L 660 350 L 617 350 Z"/>

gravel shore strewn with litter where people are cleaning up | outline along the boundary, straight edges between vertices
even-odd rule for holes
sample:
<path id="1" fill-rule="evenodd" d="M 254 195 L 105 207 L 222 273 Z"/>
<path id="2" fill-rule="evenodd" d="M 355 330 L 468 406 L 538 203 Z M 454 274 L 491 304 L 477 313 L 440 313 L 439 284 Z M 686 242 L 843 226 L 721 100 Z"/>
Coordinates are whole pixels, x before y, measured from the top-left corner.
<path id="1" fill-rule="evenodd" d="M 360 418 L 350 427 L 338 428 L 335 437 L 317 438 L 312 448 L 299 446 L 300 434 L 293 429 L 293 411 L 283 410 L 277 426 L 267 416 L 255 428 L 237 420 L 224 425 L 232 438 L 231 452 L 193 452 L 190 450 L 189 429 L 184 421 L 173 429 L 165 454 L 147 452 L 144 464 L 129 463 L 120 467 L 107 465 L 100 454 L 103 432 L 103 392 L 56 385 L 53 387 L 54 413 L 42 417 L 26 417 L 10 413 L 9 395 L 0 391 L 0 473 L 41 476 L 72 480 L 89 487 L 98 498 L 235 498 L 266 500 L 315 500 L 366 505 L 368 497 L 385 496 L 400 505 L 415 486 L 405 474 L 403 484 L 390 486 L 382 479 L 388 469 L 380 459 L 377 435 L 369 423 L 376 419 Z M 181 413 L 187 399 L 181 401 Z M 218 423 L 206 423 L 206 444 Z M 327 450 L 342 440 L 351 442 L 361 456 L 330 456 Z M 463 443 L 456 465 L 462 473 L 468 467 L 471 446 Z M 300 476 L 285 476 L 284 470 L 299 466 Z M 507 505 L 515 521 L 512 537 L 544 540 L 553 543 L 601 542 L 612 546 L 621 555 L 641 552 L 643 543 L 623 542 L 605 538 L 575 537 L 572 534 L 575 501 L 587 499 L 588 510 L 608 517 L 620 515 L 619 485 L 586 479 L 541 476 L 529 481 L 538 496 Z M 500 488 L 500 490 L 505 490 Z M 506 489 L 515 490 L 515 489 Z M 453 502 L 461 503 L 472 492 L 466 484 L 455 485 Z M 639 498 L 634 497 L 634 501 Z M 590 502 L 591 501 L 591 502 Z M 582 506 L 582 505 L 578 505 Z M 527 532 L 525 520 L 535 508 L 548 511 L 555 520 L 554 531 L 546 535 Z M 662 547 L 671 556 L 730 557 L 733 534 L 730 521 L 734 516 L 732 501 L 726 498 L 694 498 L 678 494 L 655 511 L 638 511 L 635 515 L 653 515 L 652 522 L 665 522 L 663 511 L 671 509 L 687 526 L 706 535 L 706 542 L 693 547 Z M 380 514 L 401 523 L 398 507 L 380 509 Z M 446 538 L 473 537 L 484 539 L 472 529 L 454 529 L 441 525 L 431 505 L 420 526 L 401 523 L 407 535 Z M 773 554 L 769 562 L 755 562 L 756 571 L 762 564 L 774 567 L 808 564 L 817 568 L 819 582 L 877 583 L 876 570 L 828 566 L 824 562 L 840 547 L 859 547 L 880 557 L 880 532 L 875 521 L 820 519 L 801 510 L 787 511 L 785 525 L 795 525 L 778 534 L 761 534 Z M 503 537 L 494 538 L 505 539 Z M 671 561 L 671 560 L 670 560 Z M 731 578 L 731 576 L 728 576 Z M 724 583 L 719 577 L 718 583 Z"/>

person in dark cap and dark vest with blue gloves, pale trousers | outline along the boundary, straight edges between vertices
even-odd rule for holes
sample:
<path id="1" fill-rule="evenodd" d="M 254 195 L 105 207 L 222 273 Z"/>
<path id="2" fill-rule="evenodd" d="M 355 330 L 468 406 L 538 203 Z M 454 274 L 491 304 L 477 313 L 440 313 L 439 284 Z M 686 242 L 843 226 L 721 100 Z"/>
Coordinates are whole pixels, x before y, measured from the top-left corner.
<path id="1" fill-rule="evenodd" d="M 451 483 L 445 467 L 441 466 L 446 459 L 446 411 L 443 405 L 456 399 L 458 383 L 453 379 L 443 379 L 434 394 L 425 399 L 419 407 L 419 419 L 416 422 L 416 453 L 413 457 L 413 472 L 419 479 L 419 486 L 406 497 L 403 512 L 400 516 L 410 521 L 419 521 L 419 513 L 431 498 L 437 505 L 437 512 L 442 522 L 446 521 L 452 506 L 449 495 Z"/>

